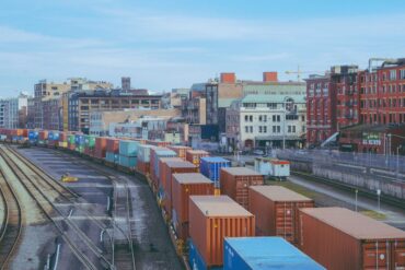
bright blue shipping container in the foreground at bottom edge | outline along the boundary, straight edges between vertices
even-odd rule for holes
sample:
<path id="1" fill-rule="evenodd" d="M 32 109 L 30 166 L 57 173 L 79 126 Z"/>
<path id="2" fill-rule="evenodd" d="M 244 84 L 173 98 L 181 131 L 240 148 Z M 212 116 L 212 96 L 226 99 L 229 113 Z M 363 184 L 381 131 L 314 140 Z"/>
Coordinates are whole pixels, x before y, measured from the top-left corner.
<path id="1" fill-rule="evenodd" d="M 224 270 L 325 269 L 281 237 L 236 237 L 223 243 Z"/>

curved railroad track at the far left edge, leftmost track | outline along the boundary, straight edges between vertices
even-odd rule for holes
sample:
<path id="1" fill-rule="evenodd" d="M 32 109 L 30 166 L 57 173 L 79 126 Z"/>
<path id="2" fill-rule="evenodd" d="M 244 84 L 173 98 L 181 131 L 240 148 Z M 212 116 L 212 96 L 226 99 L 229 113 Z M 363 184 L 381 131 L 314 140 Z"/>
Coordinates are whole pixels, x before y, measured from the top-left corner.
<path id="1" fill-rule="evenodd" d="M 23 212 L 16 193 L 1 171 L 0 193 L 4 206 L 3 225 L 0 231 L 0 269 L 9 269 L 23 232 Z"/>

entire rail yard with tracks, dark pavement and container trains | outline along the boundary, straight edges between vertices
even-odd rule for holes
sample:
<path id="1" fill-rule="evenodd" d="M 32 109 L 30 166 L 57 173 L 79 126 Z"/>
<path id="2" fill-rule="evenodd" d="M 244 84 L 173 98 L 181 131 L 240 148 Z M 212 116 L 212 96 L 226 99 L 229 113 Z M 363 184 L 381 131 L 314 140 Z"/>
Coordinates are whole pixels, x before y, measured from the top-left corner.
<path id="1" fill-rule="evenodd" d="M 263 166 L 275 166 L 266 174 L 282 169 L 281 178 L 288 179 L 274 175 L 268 180 L 261 169 L 233 167 L 229 160 L 188 146 L 16 132 L 19 139 L 11 136 L 0 144 L 2 269 L 233 269 L 234 253 L 248 257 L 236 238 L 246 246 L 284 247 L 287 254 L 280 248 L 278 256 L 287 268 L 405 267 L 401 203 L 383 200 L 377 209 L 360 193 L 354 209 L 350 193 L 337 184 L 312 181 L 297 172 L 287 176 L 287 161 L 261 160 Z M 312 212 L 350 219 L 336 218 L 334 230 L 313 237 L 315 218 L 305 218 Z M 364 237 L 356 221 L 364 226 Z M 342 235 L 350 232 L 361 251 L 346 255 L 342 244 L 334 260 L 316 248 L 328 245 L 328 234 L 345 243 Z M 267 255 L 266 266 L 274 266 L 274 258 Z"/>

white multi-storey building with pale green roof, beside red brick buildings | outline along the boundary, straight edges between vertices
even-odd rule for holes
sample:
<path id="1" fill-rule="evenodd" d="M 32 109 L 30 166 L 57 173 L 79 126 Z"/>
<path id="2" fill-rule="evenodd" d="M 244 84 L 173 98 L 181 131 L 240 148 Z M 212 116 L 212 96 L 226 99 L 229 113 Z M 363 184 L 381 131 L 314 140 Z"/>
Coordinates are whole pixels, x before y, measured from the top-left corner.
<path id="1" fill-rule="evenodd" d="M 300 148 L 305 138 L 304 95 L 246 95 L 227 109 L 232 149 Z"/>

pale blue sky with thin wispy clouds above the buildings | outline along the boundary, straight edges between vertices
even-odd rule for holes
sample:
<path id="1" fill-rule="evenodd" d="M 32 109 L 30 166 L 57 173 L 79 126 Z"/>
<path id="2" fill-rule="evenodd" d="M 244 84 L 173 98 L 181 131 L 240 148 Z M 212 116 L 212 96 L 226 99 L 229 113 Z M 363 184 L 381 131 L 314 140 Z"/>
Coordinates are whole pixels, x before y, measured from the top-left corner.
<path id="1" fill-rule="evenodd" d="M 83 77 L 170 91 L 405 57 L 403 0 L 13 0 L 0 9 L 0 97 Z"/>

